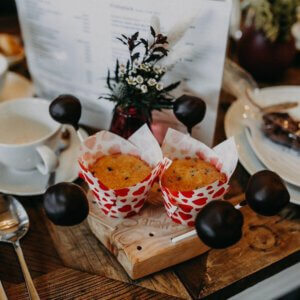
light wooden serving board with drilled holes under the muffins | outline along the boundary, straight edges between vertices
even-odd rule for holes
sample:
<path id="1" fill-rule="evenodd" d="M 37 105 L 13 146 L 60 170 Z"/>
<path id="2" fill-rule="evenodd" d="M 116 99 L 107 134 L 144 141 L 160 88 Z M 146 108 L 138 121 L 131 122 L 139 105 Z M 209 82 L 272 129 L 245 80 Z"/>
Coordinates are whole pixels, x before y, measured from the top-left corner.
<path id="1" fill-rule="evenodd" d="M 151 200 L 151 199 L 150 199 Z M 105 216 L 89 193 L 88 224 L 94 235 L 117 258 L 132 279 L 176 265 L 209 248 L 193 236 L 177 243 L 172 238 L 193 228 L 174 223 L 162 206 L 147 202 L 141 212 L 128 219 Z"/>

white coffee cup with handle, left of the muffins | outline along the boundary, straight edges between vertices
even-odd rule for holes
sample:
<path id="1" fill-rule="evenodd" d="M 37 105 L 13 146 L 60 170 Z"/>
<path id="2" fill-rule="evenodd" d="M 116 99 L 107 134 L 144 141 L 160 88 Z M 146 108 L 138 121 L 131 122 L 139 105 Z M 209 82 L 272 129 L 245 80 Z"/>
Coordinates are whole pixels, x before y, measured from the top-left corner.
<path id="1" fill-rule="evenodd" d="M 7 118 L 12 116 L 10 120 L 14 118 L 19 120 L 19 117 L 26 118 L 36 122 L 34 124 L 47 126 L 47 130 L 49 130 L 37 140 L 22 141 L 22 143 L 18 143 L 18 141 L 15 143 L 3 143 L 3 136 L 6 133 L 0 132 L 0 134 L 3 134 L 0 142 L 0 164 L 21 171 L 37 168 L 43 175 L 55 170 L 58 158 L 53 149 L 55 149 L 60 138 L 61 124 L 51 118 L 49 101 L 40 98 L 23 98 L 7 101 L 0 104 L 0 118 L 1 116 L 2 120 L 4 120 L 3 116 L 7 116 Z M 19 123 L 16 122 L 16 127 Z M 19 128 L 16 127 L 7 130 L 7 133 L 12 133 L 13 130 L 20 130 L 19 133 L 22 133 L 22 130 L 24 130 L 20 125 Z"/>

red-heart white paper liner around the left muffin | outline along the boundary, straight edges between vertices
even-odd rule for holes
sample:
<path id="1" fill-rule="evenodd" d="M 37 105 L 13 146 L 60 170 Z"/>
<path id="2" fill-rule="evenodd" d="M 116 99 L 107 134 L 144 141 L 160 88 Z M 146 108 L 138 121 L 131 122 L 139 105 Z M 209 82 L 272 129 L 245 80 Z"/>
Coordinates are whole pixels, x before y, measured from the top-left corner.
<path id="1" fill-rule="evenodd" d="M 111 154 L 130 154 L 139 157 L 152 172 L 136 185 L 113 190 L 106 187 L 89 171 L 97 159 Z M 89 185 L 103 213 L 112 218 L 126 218 L 138 213 L 161 170 L 168 163 L 163 160 L 158 142 L 147 125 L 142 126 L 128 140 L 108 131 L 88 137 L 80 149 L 80 176 Z"/>

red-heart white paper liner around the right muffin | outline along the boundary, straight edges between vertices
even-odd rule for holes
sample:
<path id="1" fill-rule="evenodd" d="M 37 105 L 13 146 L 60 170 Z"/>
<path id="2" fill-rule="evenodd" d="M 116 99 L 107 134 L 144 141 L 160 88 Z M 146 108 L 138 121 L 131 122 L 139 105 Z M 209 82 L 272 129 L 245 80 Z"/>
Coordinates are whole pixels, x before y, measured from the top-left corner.
<path id="1" fill-rule="evenodd" d="M 229 138 L 211 149 L 190 135 L 169 129 L 162 145 L 162 152 L 167 158 L 159 175 L 159 182 L 167 214 L 175 223 L 194 226 L 201 208 L 212 200 L 222 198 L 229 188 L 228 182 L 238 162 L 234 138 Z M 192 191 L 171 191 L 162 185 L 162 176 L 172 160 L 195 157 L 214 165 L 219 172 L 226 175 L 226 181 L 217 180 Z"/>

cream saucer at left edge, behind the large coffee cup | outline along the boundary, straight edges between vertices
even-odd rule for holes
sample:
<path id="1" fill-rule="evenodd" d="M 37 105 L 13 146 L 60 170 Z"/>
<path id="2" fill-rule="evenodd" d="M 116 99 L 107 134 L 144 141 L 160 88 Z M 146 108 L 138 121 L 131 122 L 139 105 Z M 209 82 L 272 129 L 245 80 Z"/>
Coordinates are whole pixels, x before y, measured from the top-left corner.
<path id="1" fill-rule="evenodd" d="M 14 72 L 7 72 L 0 102 L 15 98 L 32 97 L 34 88 L 31 81 Z"/>

